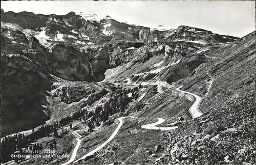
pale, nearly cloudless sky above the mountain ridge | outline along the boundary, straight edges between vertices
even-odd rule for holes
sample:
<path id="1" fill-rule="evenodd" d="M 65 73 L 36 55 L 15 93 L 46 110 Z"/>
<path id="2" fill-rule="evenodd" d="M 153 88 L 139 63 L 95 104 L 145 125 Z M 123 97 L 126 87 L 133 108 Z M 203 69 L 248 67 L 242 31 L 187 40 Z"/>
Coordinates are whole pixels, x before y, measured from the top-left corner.
<path id="1" fill-rule="evenodd" d="M 147 27 L 189 25 L 236 37 L 255 31 L 254 1 L 1 1 L 1 8 L 56 15 L 88 11 Z"/>

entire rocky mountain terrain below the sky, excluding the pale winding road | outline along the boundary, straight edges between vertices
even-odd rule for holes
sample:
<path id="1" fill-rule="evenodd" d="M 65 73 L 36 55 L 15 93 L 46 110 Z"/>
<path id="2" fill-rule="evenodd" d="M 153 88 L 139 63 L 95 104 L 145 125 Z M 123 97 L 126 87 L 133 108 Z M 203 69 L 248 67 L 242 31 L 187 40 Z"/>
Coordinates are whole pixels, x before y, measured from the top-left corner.
<path id="1" fill-rule="evenodd" d="M 108 139 L 117 117 L 135 116 L 81 163 L 255 162 L 255 32 L 238 39 L 185 25 L 147 28 L 87 12 L 1 10 L 1 40 L 2 135 L 61 123 L 55 127 L 58 136 L 52 132 L 25 146 L 40 143 L 48 150 L 55 140 L 57 154 L 71 156 L 77 142 L 72 130 L 82 129 L 79 158 Z M 202 117 L 191 118 L 195 99 L 176 91 L 179 86 L 203 98 Z M 157 117 L 165 119 L 161 126 L 179 127 L 166 132 L 140 127 Z"/>

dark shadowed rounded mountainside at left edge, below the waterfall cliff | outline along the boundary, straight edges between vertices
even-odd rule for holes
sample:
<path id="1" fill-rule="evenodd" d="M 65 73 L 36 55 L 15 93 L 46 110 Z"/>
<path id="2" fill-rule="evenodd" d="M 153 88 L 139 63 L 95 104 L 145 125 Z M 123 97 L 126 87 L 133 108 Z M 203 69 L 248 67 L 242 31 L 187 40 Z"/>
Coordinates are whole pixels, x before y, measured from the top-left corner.
<path id="1" fill-rule="evenodd" d="M 32 129 L 48 119 L 51 78 L 38 63 L 21 54 L 1 54 L 1 135 Z"/>

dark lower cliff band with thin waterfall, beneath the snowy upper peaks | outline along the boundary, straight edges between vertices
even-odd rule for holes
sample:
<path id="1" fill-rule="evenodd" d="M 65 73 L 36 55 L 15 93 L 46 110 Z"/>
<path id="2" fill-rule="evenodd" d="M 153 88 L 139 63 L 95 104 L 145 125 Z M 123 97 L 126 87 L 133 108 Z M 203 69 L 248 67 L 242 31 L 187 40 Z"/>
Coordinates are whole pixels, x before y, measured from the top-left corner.
<path id="1" fill-rule="evenodd" d="M 22 27 L 10 23 L 2 24 L 1 37 L 3 53 L 23 54 L 39 63 L 49 73 L 62 78 L 95 81 L 94 77 L 98 76 L 97 73 L 109 69 L 109 55 L 106 47 L 100 50 L 94 48 L 93 53 L 63 42 L 51 43 L 50 46 L 45 47 Z"/>

